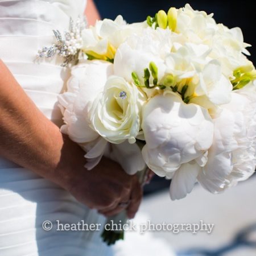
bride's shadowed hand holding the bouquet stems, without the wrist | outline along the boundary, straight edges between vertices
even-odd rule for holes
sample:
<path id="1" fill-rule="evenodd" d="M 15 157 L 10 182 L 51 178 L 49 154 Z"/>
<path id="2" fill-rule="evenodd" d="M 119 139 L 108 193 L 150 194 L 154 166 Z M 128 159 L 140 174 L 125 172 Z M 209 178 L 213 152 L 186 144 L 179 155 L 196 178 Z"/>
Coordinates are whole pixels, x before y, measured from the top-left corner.
<path id="1" fill-rule="evenodd" d="M 81 203 L 105 216 L 117 214 L 127 207 L 127 216 L 133 218 L 142 199 L 137 176 L 127 175 L 119 164 L 106 158 L 102 158 L 93 170 L 74 170 L 69 191 Z"/>

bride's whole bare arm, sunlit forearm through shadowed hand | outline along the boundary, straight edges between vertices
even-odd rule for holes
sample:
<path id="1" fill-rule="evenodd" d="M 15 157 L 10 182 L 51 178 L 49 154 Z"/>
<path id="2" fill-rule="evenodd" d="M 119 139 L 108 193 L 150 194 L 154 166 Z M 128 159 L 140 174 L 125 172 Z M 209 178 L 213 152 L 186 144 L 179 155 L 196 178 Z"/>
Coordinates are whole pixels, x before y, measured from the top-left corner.
<path id="1" fill-rule="evenodd" d="M 0 155 L 59 184 L 106 215 L 119 212 L 119 201 L 132 197 L 128 213 L 134 216 L 141 200 L 137 178 L 108 159 L 92 171 L 85 170 L 81 148 L 36 108 L 1 60 L 0 117 Z"/>

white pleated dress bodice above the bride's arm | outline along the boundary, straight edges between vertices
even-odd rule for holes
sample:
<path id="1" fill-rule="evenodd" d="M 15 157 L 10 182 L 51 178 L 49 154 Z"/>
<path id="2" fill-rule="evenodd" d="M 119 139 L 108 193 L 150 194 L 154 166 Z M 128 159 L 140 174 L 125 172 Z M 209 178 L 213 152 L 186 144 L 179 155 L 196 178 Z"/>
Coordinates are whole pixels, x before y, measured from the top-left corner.
<path id="1" fill-rule="evenodd" d="M 0 0 L 0 58 L 35 105 L 61 126 L 57 96 L 63 92 L 69 69 L 63 59 L 36 59 L 38 50 L 55 43 L 52 30 L 69 30 L 69 20 L 84 13 L 86 0 Z M 0 168 L 14 167 L 2 159 Z"/>

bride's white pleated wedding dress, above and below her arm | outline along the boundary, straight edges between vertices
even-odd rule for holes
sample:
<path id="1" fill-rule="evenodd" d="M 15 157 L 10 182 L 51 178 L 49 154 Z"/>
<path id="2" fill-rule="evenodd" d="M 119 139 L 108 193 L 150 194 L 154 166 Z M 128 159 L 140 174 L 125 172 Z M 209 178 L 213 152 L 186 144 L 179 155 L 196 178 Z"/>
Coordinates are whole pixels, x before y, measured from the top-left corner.
<path id="1" fill-rule="evenodd" d="M 40 64 L 34 60 L 38 49 L 53 43 L 52 30 L 68 30 L 69 17 L 76 19 L 84 8 L 85 0 L 0 0 L 0 57 L 36 106 L 59 126 L 57 95 L 68 69 L 60 67 L 58 58 Z M 46 220 L 53 223 L 48 232 L 42 228 Z M 112 255 L 101 232 L 56 231 L 56 220 L 105 223 L 62 188 L 0 157 L 1 256 Z"/>

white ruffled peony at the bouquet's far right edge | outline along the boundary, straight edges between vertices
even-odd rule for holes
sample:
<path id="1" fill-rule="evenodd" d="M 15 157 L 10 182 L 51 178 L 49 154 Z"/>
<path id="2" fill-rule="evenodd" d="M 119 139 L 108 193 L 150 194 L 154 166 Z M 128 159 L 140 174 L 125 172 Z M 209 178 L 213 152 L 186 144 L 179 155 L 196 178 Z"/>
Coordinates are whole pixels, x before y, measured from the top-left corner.
<path id="1" fill-rule="evenodd" d="M 256 84 L 232 92 L 232 101 L 222 106 L 214 119 L 214 141 L 208 163 L 197 178 L 212 193 L 246 180 L 255 170 Z"/>

